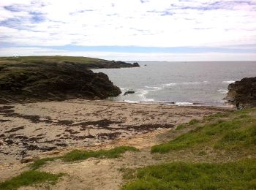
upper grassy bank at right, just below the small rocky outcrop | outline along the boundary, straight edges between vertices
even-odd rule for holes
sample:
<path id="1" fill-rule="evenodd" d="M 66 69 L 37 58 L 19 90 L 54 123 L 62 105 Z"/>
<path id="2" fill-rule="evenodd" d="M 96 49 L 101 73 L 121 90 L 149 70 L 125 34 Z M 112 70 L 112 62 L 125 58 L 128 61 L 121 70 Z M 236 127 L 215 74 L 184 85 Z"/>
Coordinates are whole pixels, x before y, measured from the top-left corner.
<path id="1" fill-rule="evenodd" d="M 201 122 L 191 121 L 178 128 L 194 126 L 194 129 L 167 143 L 153 146 L 151 153 L 167 153 L 171 150 L 200 148 L 204 145 L 225 150 L 250 148 L 256 145 L 255 113 L 255 109 L 246 109 L 211 115 Z"/>

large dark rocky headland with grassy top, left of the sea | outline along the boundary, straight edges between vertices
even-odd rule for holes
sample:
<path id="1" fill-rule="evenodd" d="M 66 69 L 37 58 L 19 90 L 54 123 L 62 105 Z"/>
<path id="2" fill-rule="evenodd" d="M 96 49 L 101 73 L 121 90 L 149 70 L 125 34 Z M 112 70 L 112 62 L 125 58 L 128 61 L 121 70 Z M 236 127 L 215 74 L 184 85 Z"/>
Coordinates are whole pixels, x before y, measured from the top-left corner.
<path id="1" fill-rule="evenodd" d="M 90 69 L 135 66 L 139 65 L 69 56 L 0 58 L 0 104 L 118 96 L 120 89 L 107 75 Z"/>

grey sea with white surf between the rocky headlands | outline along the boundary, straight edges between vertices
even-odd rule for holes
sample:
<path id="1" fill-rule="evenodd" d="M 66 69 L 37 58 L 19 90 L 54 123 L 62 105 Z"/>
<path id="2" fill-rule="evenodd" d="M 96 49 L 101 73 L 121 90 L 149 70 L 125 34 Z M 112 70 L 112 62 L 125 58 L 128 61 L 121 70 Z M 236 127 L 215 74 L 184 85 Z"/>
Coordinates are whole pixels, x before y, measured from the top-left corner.
<path id="1" fill-rule="evenodd" d="M 94 69 L 104 72 L 122 94 L 116 102 L 225 106 L 227 86 L 256 77 L 256 61 L 138 62 L 139 68 Z M 127 94 L 126 91 L 135 91 Z"/>

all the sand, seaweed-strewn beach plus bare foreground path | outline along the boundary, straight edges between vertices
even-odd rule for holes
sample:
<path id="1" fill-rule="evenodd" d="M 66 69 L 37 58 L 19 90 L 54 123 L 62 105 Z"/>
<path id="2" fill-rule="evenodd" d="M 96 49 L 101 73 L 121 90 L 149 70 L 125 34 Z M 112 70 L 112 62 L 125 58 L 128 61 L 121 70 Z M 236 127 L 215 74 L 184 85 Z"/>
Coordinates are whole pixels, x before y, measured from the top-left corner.
<path id="1" fill-rule="evenodd" d="M 188 107 L 129 104 L 75 99 L 64 102 L 2 104 L 0 106 L 0 181 L 27 169 L 27 162 L 74 148 L 99 150 L 132 145 L 147 150 L 180 123 L 225 112 L 228 107 Z M 88 159 L 74 164 L 54 162 L 42 170 L 75 173 L 54 189 L 118 189 L 123 165 L 154 164 L 145 153 L 126 153 L 120 159 Z M 136 162 L 136 163 L 135 163 Z M 102 174 L 105 172 L 105 174 Z M 99 174 L 102 175 L 99 178 Z M 94 177 L 93 177 L 94 176 Z M 110 178 L 112 180 L 110 180 Z M 79 182 L 80 181 L 80 182 Z M 79 183 L 78 183 L 79 182 Z M 26 188 L 27 189 L 27 188 Z"/>

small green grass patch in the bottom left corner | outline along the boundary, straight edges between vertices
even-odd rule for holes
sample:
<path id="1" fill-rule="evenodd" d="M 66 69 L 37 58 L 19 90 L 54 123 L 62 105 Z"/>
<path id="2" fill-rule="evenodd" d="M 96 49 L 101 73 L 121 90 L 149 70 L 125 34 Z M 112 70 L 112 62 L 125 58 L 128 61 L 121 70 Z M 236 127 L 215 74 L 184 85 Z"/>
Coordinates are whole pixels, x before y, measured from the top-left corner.
<path id="1" fill-rule="evenodd" d="M 15 176 L 9 180 L 0 183 L 0 189 L 18 189 L 21 186 L 34 186 L 38 183 L 55 184 L 59 178 L 64 174 L 51 174 L 48 172 L 39 172 L 36 170 L 29 170 L 22 172 L 20 175 Z"/>

